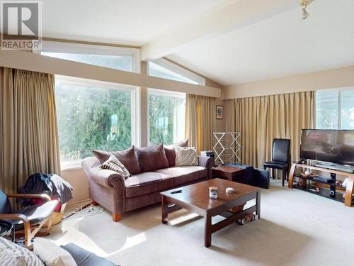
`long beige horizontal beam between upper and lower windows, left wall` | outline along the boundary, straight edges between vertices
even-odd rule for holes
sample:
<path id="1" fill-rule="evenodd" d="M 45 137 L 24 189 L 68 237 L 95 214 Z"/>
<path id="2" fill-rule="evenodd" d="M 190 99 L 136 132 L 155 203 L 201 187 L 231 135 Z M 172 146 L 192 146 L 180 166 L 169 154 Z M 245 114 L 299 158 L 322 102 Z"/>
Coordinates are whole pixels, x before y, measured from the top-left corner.
<path id="1" fill-rule="evenodd" d="M 173 92 L 184 92 L 221 98 L 221 89 L 207 87 L 171 79 L 151 77 L 147 74 L 113 70 L 107 67 L 84 64 L 55 57 L 34 54 L 32 52 L 0 50 L 0 67 L 11 67 L 21 70 L 30 70 L 49 74 L 60 74 L 69 77 L 101 80 L 116 84 L 163 89 Z"/>

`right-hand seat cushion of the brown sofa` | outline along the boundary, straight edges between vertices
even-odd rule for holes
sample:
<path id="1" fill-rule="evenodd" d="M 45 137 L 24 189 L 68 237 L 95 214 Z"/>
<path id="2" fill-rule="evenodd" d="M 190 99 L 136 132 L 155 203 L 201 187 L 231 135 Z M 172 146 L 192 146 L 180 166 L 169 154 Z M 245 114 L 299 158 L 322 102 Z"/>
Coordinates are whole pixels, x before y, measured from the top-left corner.
<path id="1" fill-rule="evenodd" d="M 202 166 L 169 167 L 155 172 L 173 177 L 175 186 L 207 177 L 207 168 Z"/>

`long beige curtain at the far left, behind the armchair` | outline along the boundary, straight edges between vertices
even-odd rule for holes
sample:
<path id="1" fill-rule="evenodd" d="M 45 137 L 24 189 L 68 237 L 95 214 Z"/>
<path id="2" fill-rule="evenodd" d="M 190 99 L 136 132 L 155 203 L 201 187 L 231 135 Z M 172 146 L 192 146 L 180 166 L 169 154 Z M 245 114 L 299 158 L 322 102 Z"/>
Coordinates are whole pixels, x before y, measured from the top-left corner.
<path id="1" fill-rule="evenodd" d="M 60 174 L 54 76 L 0 68 L 0 188 L 16 192 L 30 174 Z"/>

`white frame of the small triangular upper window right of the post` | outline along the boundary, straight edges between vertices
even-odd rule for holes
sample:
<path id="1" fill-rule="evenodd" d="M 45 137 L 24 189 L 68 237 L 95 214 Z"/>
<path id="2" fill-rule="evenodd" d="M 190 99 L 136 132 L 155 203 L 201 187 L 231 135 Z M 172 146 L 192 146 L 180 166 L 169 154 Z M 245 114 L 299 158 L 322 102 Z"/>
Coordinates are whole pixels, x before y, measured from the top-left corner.
<path id="1" fill-rule="evenodd" d="M 181 67 L 180 65 L 177 65 L 176 63 L 171 62 L 170 60 L 167 60 L 164 57 L 153 60 L 152 63 L 159 65 L 160 67 L 164 67 L 164 68 L 166 68 L 166 70 L 170 70 L 171 72 L 175 72 L 176 74 L 186 77 L 187 79 L 191 79 L 194 82 L 197 82 L 198 85 L 205 86 L 205 78 L 204 77 L 202 77 L 198 74 L 195 74 L 194 72 L 192 72 L 190 70 L 186 70 L 184 67 Z M 148 75 L 150 75 L 149 70 L 150 70 L 150 62 L 148 62 L 148 65 L 147 65 L 147 74 Z M 187 82 L 185 82 L 185 83 L 187 83 Z"/>

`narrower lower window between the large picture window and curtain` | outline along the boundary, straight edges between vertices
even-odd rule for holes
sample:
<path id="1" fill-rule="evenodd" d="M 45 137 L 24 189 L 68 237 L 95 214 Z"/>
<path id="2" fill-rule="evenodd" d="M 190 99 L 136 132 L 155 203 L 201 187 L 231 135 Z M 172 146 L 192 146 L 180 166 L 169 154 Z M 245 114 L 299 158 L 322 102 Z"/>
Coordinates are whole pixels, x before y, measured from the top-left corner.
<path id="1" fill-rule="evenodd" d="M 149 143 L 171 144 L 185 137 L 185 94 L 149 89 Z"/>

